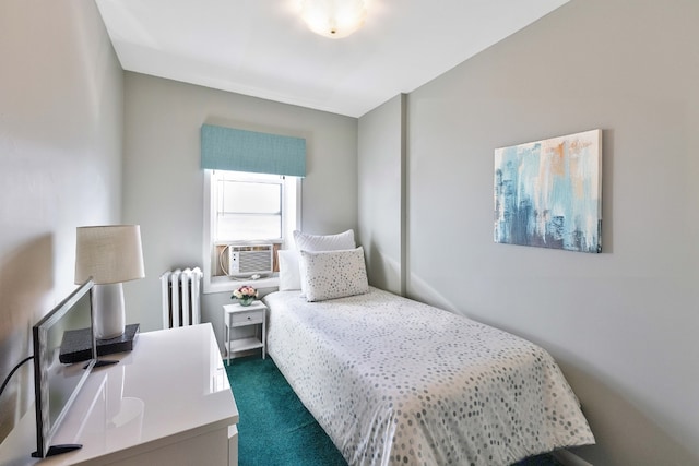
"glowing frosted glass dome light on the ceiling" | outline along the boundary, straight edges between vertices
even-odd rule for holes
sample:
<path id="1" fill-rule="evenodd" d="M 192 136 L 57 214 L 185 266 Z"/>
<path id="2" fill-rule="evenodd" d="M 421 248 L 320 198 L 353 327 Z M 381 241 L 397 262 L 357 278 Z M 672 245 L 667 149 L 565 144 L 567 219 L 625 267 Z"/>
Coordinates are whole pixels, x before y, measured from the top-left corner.
<path id="1" fill-rule="evenodd" d="M 301 17 L 316 34 L 347 37 L 364 25 L 365 0 L 301 0 Z"/>

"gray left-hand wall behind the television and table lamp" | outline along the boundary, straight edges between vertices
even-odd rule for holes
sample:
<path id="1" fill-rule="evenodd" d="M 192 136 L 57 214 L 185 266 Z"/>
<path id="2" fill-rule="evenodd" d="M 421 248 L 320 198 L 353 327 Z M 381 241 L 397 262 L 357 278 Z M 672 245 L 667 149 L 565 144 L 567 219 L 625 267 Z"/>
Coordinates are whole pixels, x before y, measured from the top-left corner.
<path id="1" fill-rule="evenodd" d="M 123 83 L 93 1 L 2 0 L 0 12 L 4 379 L 33 353 L 32 325 L 75 289 L 75 228 L 119 220 Z M 0 398 L 0 441 L 34 402 L 33 373 Z"/>

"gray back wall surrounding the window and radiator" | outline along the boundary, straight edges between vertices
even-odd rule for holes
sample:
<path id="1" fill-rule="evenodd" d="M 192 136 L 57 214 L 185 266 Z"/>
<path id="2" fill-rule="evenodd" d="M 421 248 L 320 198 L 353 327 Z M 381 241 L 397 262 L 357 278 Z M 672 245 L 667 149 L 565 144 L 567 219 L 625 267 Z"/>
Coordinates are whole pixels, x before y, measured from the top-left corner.
<path id="1" fill-rule="evenodd" d="M 141 225 L 146 277 L 125 284 L 127 321 L 162 326 L 159 276 L 202 266 L 202 123 L 305 138 L 303 228 L 357 227 L 357 120 L 238 94 L 126 73 L 123 217 Z M 205 295 L 202 319 L 223 338 L 222 306 L 230 294 Z"/>

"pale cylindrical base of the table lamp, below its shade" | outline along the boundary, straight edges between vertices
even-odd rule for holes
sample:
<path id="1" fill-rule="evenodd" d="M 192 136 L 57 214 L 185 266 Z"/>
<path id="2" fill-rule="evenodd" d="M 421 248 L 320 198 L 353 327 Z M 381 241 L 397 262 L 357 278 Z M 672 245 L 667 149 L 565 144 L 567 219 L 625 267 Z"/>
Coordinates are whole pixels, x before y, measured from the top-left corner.
<path id="1" fill-rule="evenodd" d="M 92 299 L 95 337 L 109 339 L 121 336 L 126 327 L 121 283 L 95 285 Z"/>

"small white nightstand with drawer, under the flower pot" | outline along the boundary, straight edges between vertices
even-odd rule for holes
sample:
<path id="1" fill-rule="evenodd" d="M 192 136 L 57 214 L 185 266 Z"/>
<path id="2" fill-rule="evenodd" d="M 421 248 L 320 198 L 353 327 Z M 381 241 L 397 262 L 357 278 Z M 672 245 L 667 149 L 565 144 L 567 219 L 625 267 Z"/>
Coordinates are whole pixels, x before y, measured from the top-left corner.
<path id="1" fill-rule="evenodd" d="M 264 306 L 262 301 L 253 301 L 250 306 L 226 304 L 223 307 L 226 362 L 228 365 L 230 363 L 232 354 L 246 351 L 248 349 L 262 348 L 262 359 L 264 359 L 264 339 L 266 336 L 265 311 L 266 306 Z M 230 328 L 246 327 L 249 325 L 256 325 L 254 336 L 230 338 Z M 260 331 L 259 334 L 258 331 Z"/>

